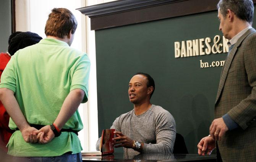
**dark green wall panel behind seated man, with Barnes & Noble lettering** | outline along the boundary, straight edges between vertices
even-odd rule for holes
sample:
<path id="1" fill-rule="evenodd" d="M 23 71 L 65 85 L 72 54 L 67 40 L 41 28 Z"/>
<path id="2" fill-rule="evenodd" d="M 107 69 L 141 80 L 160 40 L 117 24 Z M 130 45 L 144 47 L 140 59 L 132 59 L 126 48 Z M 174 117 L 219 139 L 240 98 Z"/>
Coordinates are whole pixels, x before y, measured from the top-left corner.
<path id="1" fill-rule="evenodd" d="M 119 115 L 133 109 L 128 83 L 136 72 L 149 73 L 156 90 L 151 103 L 167 109 L 189 153 L 209 134 L 222 67 L 200 61 L 225 60 L 227 53 L 175 58 L 174 42 L 210 37 L 219 29 L 217 11 L 96 30 L 99 135 Z M 222 43 L 222 39 L 221 42 Z M 120 150 L 119 150 L 120 151 Z"/>

